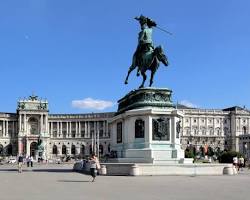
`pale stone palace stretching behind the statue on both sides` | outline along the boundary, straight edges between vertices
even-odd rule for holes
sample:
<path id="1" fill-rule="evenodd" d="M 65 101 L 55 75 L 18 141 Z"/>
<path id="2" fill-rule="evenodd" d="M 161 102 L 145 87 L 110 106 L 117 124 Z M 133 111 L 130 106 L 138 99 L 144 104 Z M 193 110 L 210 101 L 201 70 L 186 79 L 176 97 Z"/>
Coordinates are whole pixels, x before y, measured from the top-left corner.
<path id="1" fill-rule="evenodd" d="M 190 146 L 214 151 L 235 150 L 250 158 L 250 111 L 241 107 L 198 109 L 177 105 L 182 149 Z M 47 100 L 30 96 L 19 100 L 16 113 L 0 113 L 0 156 L 32 155 L 52 159 L 109 154 L 110 121 L 115 112 L 50 114 Z M 39 154 L 38 142 L 42 141 Z"/>

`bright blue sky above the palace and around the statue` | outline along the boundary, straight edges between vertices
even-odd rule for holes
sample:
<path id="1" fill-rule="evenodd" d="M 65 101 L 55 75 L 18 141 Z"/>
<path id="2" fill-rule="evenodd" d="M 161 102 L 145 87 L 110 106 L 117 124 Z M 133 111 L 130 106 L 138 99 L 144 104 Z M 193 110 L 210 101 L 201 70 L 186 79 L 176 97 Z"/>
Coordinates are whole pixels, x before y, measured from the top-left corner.
<path id="1" fill-rule="evenodd" d="M 173 33 L 154 30 L 170 62 L 155 87 L 201 108 L 250 108 L 249 10 L 247 0 L 2 0 L 0 112 L 32 92 L 51 113 L 116 111 L 141 83 L 133 72 L 123 84 L 140 14 Z"/>

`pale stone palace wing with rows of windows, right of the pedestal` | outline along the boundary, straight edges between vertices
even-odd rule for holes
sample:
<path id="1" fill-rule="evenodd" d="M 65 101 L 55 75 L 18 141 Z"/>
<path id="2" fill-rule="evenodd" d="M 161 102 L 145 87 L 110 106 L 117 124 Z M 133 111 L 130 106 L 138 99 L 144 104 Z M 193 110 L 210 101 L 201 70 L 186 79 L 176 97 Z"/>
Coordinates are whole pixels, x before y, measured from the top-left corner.
<path id="1" fill-rule="evenodd" d="M 242 151 L 242 145 L 249 148 L 249 141 L 240 137 L 249 134 L 250 112 L 241 107 L 223 110 L 215 109 L 180 109 L 182 119 L 181 144 L 211 147 L 212 149 Z M 242 137 L 245 138 L 245 137 Z"/>

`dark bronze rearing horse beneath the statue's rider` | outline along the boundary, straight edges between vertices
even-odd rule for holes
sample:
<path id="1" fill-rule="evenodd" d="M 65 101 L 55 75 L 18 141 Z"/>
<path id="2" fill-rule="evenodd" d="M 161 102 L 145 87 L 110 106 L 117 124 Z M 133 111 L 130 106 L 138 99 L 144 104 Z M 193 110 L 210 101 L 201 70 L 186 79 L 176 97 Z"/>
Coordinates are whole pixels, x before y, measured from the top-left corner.
<path id="1" fill-rule="evenodd" d="M 134 55 L 132 65 L 130 66 L 128 70 L 125 84 L 128 84 L 129 74 L 136 67 L 138 67 L 137 76 L 141 74 L 143 77 L 142 84 L 140 85 L 139 88 L 144 87 L 144 83 L 147 79 L 147 75 L 146 75 L 147 70 L 151 71 L 150 84 L 149 84 L 149 87 L 151 87 L 154 81 L 155 72 L 157 71 L 160 65 L 160 62 L 162 62 L 165 66 L 168 66 L 167 56 L 164 54 L 161 46 L 156 47 L 153 51 L 148 51 L 148 52 L 143 53 L 143 55 L 141 55 L 139 59 L 136 58 L 136 56 Z"/>

